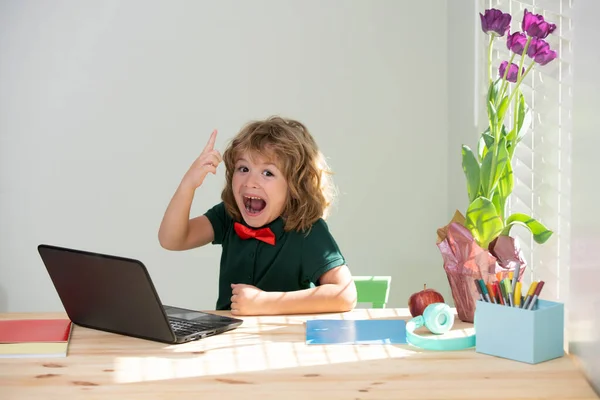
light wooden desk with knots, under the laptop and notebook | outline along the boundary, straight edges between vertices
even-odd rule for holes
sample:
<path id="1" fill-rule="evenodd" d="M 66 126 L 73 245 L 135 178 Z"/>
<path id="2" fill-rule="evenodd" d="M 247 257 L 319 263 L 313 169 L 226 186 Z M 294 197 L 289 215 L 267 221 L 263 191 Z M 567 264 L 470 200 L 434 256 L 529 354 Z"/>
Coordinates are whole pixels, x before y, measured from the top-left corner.
<path id="1" fill-rule="evenodd" d="M 0 314 L 0 318 L 64 317 Z M 409 318 L 405 309 L 245 317 L 238 329 L 165 345 L 75 326 L 69 356 L 0 359 L 0 398 L 597 399 L 571 358 L 537 365 L 473 349 L 304 343 L 315 317 Z M 471 328 L 455 324 L 456 333 Z"/>

